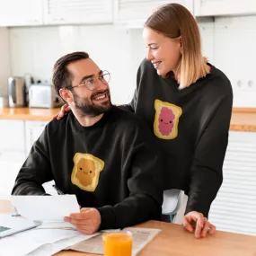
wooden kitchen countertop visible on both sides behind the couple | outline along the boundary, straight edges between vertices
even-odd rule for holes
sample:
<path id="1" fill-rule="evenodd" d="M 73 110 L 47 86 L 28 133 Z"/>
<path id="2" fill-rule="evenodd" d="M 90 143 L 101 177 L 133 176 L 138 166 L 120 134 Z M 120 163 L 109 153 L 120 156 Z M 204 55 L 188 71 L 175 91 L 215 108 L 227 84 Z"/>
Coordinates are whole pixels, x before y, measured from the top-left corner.
<path id="1" fill-rule="evenodd" d="M 4 108 L 0 109 L 0 119 L 23 119 L 50 121 L 57 114 L 56 109 Z M 256 109 L 234 108 L 231 130 L 256 131 Z"/>

